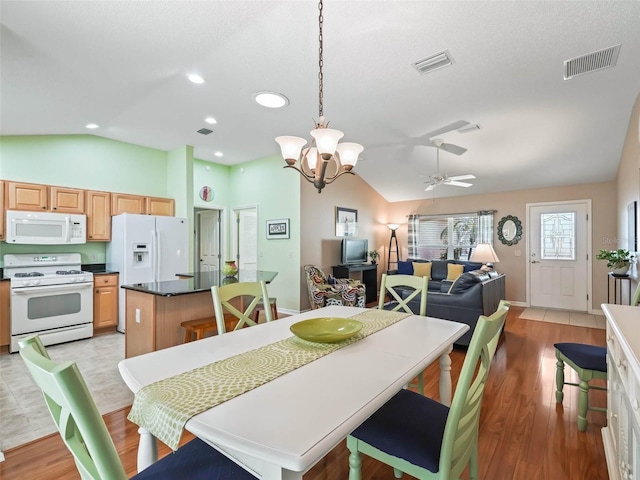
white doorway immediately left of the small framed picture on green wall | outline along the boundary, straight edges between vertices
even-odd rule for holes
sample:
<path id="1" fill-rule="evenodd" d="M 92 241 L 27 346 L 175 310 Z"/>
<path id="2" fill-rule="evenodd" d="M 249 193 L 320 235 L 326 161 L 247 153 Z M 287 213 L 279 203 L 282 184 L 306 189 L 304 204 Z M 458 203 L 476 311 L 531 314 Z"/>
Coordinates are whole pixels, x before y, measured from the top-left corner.
<path id="1" fill-rule="evenodd" d="M 233 209 L 233 255 L 238 268 L 244 272 L 258 270 L 258 207 Z M 251 280 L 244 277 L 247 280 Z"/>

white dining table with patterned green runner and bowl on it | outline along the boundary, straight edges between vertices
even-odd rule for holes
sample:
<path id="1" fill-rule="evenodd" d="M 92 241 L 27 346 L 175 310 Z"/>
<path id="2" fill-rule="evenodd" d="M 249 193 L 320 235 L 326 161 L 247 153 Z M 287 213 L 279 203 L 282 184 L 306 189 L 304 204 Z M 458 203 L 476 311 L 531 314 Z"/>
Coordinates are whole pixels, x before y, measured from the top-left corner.
<path id="1" fill-rule="evenodd" d="M 329 306 L 224 335 L 122 360 L 134 392 L 151 383 L 292 335 L 296 322 L 352 317 L 363 308 Z M 411 315 L 355 343 L 195 415 L 185 429 L 267 480 L 303 474 L 428 365 L 440 362 L 440 401 L 451 401 L 453 343 L 469 326 Z M 140 429 L 138 471 L 157 460 Z"/>

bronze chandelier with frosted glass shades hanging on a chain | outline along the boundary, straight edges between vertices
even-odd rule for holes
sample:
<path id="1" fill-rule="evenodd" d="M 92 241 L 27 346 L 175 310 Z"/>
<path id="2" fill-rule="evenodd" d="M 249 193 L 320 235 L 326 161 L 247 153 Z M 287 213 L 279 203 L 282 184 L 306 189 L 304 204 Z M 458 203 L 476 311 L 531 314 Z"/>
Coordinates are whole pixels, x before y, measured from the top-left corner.
<path id="1" fill-rule="evenodd" d="M 277 137 L 276 142 L 280 145 L 282 157 L 286 162 L 284 168 L 293 168 L 297 170 L 302 178 L 313 183 L 318 189 L 318 193 L 322 193 L 322 189 L 332 183 L 337 178 L 350 173 L 358 161 L 358 155 L 364 150 L 362 145 L 357 143 L 345 142 L 338 143 L 344 136 L 340 130 L 328 128 L 329 122 L 325 123 L 322 108 L 322 0 L 318 3 L 318 28 L 319 28 L 319 49 L 318 49 L 318 122 L 315 128 L 311 130 L 312 140 L 310 146 L 303 148 L 307 141 L 300 137 Z M 333 168 L 327 172 L 329 164 Z M 296 165 L 297 164 L 297 165 Z"/>

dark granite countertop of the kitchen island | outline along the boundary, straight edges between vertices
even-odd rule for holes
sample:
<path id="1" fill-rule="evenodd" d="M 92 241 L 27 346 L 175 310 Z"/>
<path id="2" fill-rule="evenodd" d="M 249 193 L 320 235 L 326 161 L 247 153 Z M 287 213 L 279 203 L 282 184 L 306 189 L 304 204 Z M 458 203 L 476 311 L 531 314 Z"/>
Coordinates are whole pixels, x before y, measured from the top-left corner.
<path id="1" fill-rule="evenodd" d="M 149 282 L 134 283 L 130 285 L 122 285 L 127 290 L 135 290 L 137 292 L 150 293 L 152 295 L 161 295 L 171 297 L 174 295 L 187 295 L 190 293 L 206 292 L 211 290 L 214 285 L 226 285 L 228 283 L 237 282 L 255 282 L 264 280 L 267 283 L 276 278 L 278 272 L 267 271 L 240 271 L 235 277 L 225 277 L 219 270 L 211 272 L 191 272 L 179 273 L 181 277 L 191 277 L 184 280 L 169 280 L 166 282 Z"/>

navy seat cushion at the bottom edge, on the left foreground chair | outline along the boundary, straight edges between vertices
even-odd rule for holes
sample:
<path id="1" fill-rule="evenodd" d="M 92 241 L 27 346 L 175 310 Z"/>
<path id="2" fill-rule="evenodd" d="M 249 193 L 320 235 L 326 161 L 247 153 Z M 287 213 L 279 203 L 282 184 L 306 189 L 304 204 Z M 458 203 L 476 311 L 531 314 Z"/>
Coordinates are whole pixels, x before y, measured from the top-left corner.
<path id="1" fill-rule="evenodd" d="M 131 480 L 255 480 L 256 477 L 235 464 L 199 438 L 169 453 Z"/>

